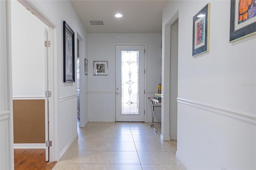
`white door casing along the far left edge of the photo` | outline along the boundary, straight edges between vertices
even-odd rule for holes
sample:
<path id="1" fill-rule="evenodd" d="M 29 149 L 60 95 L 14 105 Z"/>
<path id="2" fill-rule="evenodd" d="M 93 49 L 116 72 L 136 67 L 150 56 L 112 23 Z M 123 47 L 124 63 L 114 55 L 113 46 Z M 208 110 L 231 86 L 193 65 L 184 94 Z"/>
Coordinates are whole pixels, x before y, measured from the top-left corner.
<path id="1" fill-rule="evenodd" d="M 0 169 L 14 169 L 10 2 L 0 1 Z"/>

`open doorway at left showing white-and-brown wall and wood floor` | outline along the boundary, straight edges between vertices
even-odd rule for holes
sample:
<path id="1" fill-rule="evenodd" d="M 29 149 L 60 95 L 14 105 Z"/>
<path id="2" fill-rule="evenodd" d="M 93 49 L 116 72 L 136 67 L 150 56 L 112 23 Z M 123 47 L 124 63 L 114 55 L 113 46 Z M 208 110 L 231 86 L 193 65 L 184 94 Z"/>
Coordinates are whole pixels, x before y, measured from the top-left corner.
<path id="1" fill-rule="evenodd" d="M 22 3 L 26 3 L 25 1 Z M 34 161 L 49 161 L 48 104 L 48 32 L 49 27 L 18 1 L 10 2 L 12 46 L 12 98 L 14 113 L 14 154 L 23 149 L 38 150 L 30 155 Z M 45 43 L 46 41 L 46 43 Z M 14 155 L 14 157 L 16 157 Z M 18 156 L 16 158 L 22 158 Z M 27 158 L 30 159 L 30 158 Z M 14 160 L 24 162 L 23 160 Z M 40 164 L 36 162 L 36 164 Z M 22 167 L 15 167 L 22 169 Z M 38 167 L 34 167 L 35 169 Z"/>

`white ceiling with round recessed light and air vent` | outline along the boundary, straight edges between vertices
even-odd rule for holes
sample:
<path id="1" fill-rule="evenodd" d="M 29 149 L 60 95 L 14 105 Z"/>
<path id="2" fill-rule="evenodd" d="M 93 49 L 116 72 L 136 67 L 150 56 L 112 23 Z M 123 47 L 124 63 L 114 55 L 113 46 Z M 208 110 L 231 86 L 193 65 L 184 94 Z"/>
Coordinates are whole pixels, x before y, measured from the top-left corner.
<path id="1" fill-rule="evenodd" d="M 88 33 L 161 33 L 167 0 L 71 0 Z M 115 18 L 116 13 L 122 18 Z M 91 26 L 89 20 L 104 20 Z"/>

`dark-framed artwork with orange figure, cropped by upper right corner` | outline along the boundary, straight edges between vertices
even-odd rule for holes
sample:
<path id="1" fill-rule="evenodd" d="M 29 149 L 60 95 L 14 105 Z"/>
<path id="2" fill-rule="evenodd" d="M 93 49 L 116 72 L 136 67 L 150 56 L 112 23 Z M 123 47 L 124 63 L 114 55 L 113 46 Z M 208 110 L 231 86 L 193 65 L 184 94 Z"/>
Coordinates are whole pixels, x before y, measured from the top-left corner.
<path id="1" fill-rule="evenodd" d="M 230 42 L 256 34 L 255 0 L 231 0 Z"/>

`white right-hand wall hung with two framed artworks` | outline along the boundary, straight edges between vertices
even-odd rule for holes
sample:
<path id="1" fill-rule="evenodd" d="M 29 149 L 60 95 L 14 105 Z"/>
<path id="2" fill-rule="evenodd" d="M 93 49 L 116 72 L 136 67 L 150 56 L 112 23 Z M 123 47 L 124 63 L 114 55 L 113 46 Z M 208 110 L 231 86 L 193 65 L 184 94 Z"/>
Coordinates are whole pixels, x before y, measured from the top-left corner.
<path id="1" fill-rule="evenodd" d="M 208 2 L 210 51 L 192 57 L 192 19 Z M 176 14 L 176 155 L 189 169 L 256 169 L 256 35 L 229 43 L 230 1 L 169 1 L 163 11 L 164 48 L 165 26 Z M 162 51 L 168 59 L 168 49 Z"/>

